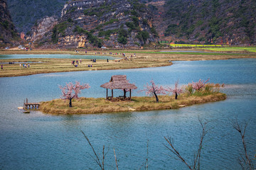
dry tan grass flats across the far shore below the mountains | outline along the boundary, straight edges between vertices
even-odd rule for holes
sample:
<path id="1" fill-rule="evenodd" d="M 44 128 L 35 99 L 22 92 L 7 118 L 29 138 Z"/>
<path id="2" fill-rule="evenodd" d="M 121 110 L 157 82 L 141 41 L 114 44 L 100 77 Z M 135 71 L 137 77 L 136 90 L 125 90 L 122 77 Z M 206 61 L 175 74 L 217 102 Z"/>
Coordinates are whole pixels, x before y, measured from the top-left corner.
<path id="1" fill-rule="evenodd" d="M 79 55 L 85 55 L 85 50 L 80 52 L 75 52 L 74 50 L 33 50 L 33 51 L 23 51 L 23 50 L 2 50 L 0 55 L 11 55 L 11 54 L 70 54 L 78 55 L 77 58 L 72 60 L 80 60 Z M 95 55 L 95 50 L 87 50 L 87 55 Z M 98 50 L 98 52 L 102 52 Z M 103 51 L 109 54 L 110 51 Z M 120 50 L 112 51 L 118 52 Z M 124 52 L 124 51 L 123 51 Z M 207 53 L 202 53 L 198 55 L 191 54 L 177 54 L 177 53 L 162 53 L 159 50 L 125 50 L 127 57 L 133 55 L 132 61 L 120 60 L 120 62 L 115 62 L 110 60 L 97 60 L 96 63 L 92 63 L 90 60 L 82 60 L 82 64 L 78 67 L 71 65 L 71 59 L 15 59 L 15 60 L 0 60 L 0 62 L 16 62 L 16 64 L 4 64 L 4 69 L 0 71 L 0 77 L 15 77 L 15 76 L 26 76 L 31 74 L 41 74 L 50 72 L 75 72 L 75 71 L 87 71 L 87 70 L 101 70 L 101 69 L 134 69 L 134 68 L 144 68 L 144 67 L 161 67 L 171 65 L 169 61 L 181 61 L 181 60 L 228 60 L 233 58 L 256 58 L 256 55 L 251 54 L 233 54 L 229 55 L 207 55 Z M 136 53 L 136 57 L 134 57 Z M 122 57 L 122 55 L 111 55 L 112 57 Z M 25 69 L 19 67 L 19 62 L 41 62 L 32 63 L 31 67 Z M 93 67 L 87 67 L 88 64 L 92 64 Z"/>

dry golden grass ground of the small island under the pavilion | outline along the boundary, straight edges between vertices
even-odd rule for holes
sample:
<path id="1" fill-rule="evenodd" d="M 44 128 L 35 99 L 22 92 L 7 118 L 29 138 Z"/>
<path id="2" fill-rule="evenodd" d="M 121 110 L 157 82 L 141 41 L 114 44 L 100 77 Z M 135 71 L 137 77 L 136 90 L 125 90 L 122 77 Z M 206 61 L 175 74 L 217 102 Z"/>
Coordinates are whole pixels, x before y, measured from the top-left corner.
<path id="1" fill-rule="evenodd" d="M 73 108 L 68 107 L 68 101 L 55 99 L 41 102 L 40 111 L 52 114 L 86 114 L 86 113 L 112 113 L 128 111 L 153 111 L 182 108 L 193 104 L 223 101 L 226 95 L 215 92 L 206 96 L 187 96 L 182 94 L 178 100 L 174 96 L 159 96 L 159 103 L 154 97 L 132 97 L 130 102 L 111 102 L 105 98 L 79 98 L 73 100 Z"/>

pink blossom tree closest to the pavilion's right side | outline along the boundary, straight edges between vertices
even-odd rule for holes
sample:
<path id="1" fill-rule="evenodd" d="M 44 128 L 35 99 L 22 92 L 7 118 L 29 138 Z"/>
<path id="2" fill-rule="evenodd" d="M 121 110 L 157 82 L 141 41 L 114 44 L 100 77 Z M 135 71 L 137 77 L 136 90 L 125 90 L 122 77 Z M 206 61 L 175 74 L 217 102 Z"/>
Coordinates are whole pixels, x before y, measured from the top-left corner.
<path id="1" fill-rule="evenodd" d="M 146 95 L 148 96 L 155 96 L 156 102 L 159 102 L 159 98 L 157 94 L 166 94 L 167 89 L 165 89 L 163 86 L 156 85 L 154 83 L 154 80 L 150 81 L 150 85 L 146 84 L 145 89 L 142 91 L 146 91 Z"/>

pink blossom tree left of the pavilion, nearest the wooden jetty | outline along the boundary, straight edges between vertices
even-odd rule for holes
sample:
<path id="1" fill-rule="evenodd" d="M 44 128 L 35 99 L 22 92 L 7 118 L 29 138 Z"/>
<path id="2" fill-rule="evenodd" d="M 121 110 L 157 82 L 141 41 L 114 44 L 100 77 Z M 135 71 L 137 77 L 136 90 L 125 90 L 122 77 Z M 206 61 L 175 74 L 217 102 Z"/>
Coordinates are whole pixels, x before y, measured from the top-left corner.
<path id="1" fill-rule="evenodd" d="M 89 89 L 89 84 L 80 84 L 79 81 L 75 81 L 75 84 L 72 82 L 66 83 L 65 86 L 60 86 L 59 88 L 62 92 L 61 98 L 68 99 L 70 101 L 69 106 L 72 108 L 72 99 L 78 98 L 78 94 L 81 93 L 81 90 L 83 89 Z"/>

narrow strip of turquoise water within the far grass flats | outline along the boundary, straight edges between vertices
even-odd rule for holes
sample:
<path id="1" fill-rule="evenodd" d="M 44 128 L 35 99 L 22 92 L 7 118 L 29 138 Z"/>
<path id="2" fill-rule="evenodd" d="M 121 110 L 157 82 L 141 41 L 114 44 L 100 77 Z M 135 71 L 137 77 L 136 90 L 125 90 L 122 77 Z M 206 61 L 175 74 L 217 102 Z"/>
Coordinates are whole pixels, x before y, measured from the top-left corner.
<path id="1" fill-rule="evenodd" d="M 98 55 L 0 55 L 3 59 L 26 59 L 26 58 L 62 58 L 62 59 L 96 59 L 96 60 L 114 60 L 115 57 Z"/>

